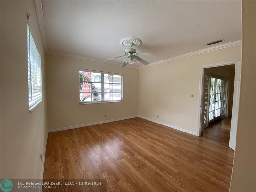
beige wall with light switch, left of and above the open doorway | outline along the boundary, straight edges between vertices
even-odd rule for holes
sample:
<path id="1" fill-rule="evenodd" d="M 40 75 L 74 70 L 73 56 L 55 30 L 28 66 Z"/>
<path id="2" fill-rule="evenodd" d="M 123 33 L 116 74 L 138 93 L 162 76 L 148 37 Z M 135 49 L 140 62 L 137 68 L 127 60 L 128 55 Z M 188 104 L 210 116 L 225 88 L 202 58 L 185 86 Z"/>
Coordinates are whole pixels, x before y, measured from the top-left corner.
<path id="1" fill-rule="evenodd" d="M 139 116 L 196 132 L 200 66 L 240 59 L 234 46 L 141 68 Z"/>

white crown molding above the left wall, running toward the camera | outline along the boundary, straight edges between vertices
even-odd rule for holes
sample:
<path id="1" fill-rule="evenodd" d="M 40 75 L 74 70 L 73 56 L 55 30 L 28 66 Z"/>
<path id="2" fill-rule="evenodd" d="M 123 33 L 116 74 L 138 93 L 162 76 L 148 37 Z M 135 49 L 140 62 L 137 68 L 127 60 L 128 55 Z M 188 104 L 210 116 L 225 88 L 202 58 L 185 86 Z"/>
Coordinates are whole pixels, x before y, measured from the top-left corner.
<path id="1" fill-rule="evenodd" d="M 46 34 L 45 34 L 45 27 L 44 27 L 44 14 L 43 14 L 43 6 L 42 6 L 42 1 L 37 0 L 34 1 L 35 3 L 35 8 L 36 8 L 36 15 L 37 15 L 37 20 L 38 20 L 38 25 L 41 33 L 41 38 L 43 41 L 44 45 L 44 51 L 48 51 L 48 46 L 47 46 L 47 41 L 46 41 Z"/>

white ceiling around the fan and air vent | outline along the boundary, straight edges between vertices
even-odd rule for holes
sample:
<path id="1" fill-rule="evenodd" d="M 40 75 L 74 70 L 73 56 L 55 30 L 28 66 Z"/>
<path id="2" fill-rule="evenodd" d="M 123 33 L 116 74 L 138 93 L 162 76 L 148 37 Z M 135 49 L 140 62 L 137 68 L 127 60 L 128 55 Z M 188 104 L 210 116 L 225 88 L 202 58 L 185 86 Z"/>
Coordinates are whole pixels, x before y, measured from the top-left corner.
<path id="1" fill-rule="evenodd" d="M 149 63 L 241 39 L 240 1 L 42 1 L 49 52 L 105 60 L 137 37 Z M 122 59 L 112 62 L 122 64 Z M 138 61 L 134 66 L 142 66 Z"/>

